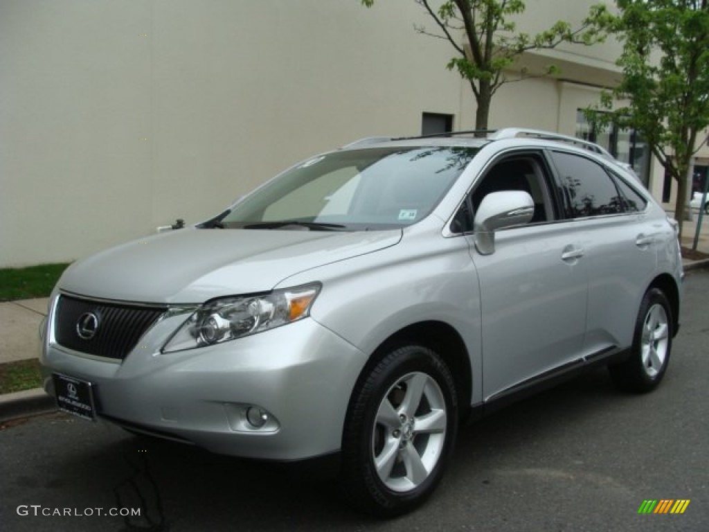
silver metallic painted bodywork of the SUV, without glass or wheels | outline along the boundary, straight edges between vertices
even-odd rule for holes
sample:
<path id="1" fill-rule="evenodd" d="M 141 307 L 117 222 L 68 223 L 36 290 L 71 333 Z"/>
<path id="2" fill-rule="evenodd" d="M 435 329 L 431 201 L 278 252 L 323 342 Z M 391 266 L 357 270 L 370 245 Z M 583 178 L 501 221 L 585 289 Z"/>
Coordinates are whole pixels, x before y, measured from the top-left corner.
<path id="1" fill-rule="evenodd" d="M 474 235 L 450 232 L 462 198 L 497 157 L 541 150 L 548 143 L 431 143 L 482 148 L 432 214 L 403 230 L 183 229 L 77 262 L 58 284 L 94 298 L 201 304 L 321 282 L 310 318 L 211 347 L 161 354 L 187 315 L 173 316 L 158 321 L 140 340 L 145 347 L 118 364 L 56 345 L 50 309 L 41 355 L 45 375 L 56 371 L 90 380 L 104 414 L 219 453 L 308 458 L 340 448 L 359 373 L 374 350 L 402 328 L 437 321 L 457 333 L 471 366 L 468 399 L 480 404 L 604 345 L 629 346 L 628 323 L 635 321 L 652 279 L 670 275 L 679 287 L 676 235 L 643 191 L 649 206 L 642 214 L 508 228 L 496 234 L 495 253 L 481 255 Z M 625 175 L 618 167 L 613 171 Z M 49 377 L 47 382 L 50 388 Z M 271 411 L 277 430 L 234 430 L 241 425 L 233 416 L 245 404 Z"/>

